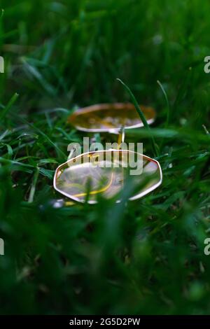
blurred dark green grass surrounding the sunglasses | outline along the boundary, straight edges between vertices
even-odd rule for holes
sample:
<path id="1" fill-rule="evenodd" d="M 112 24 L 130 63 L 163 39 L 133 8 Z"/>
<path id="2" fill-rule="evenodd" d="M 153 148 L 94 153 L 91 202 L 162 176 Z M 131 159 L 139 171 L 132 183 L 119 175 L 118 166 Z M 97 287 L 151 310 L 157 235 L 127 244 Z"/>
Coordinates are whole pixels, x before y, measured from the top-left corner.
<path id="1" fill-rule="evenodd" d="M 0 7 L 1 314 L 210 314 L 209 1 Z M 116 78 L 158 113 L 162 186 L 136 202 L 55 209 L 55 168 L 83 137 L 66 118 L 127 102 Z M 129 140 L 153 157 L 146 130 Z"/>

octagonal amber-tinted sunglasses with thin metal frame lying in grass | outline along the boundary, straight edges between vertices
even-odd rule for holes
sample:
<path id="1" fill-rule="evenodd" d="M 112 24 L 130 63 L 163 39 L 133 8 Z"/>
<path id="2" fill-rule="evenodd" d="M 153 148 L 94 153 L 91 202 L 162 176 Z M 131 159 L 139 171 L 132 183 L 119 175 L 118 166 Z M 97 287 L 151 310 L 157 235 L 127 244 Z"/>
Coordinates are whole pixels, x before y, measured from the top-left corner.
<path id="1" fill-rule="evenodd" d="M 141 106 L 141 110 L 147 123 L 153 123 L 154 109 Z M 53 181 L 55 190 L 65 197 L 90 204 L 97 203 L 99 197 L 115 198 L 116 202 L 120 202 L 128 181 L 132 186 L 129 200 L 137 200 L 162 183 L 162 169 L 157 160 L 122 148 L 125 131 L 144 126 L 134 105 L 116 103 L 87 106 L 71 114 L 68 123 L 82 132 L 118 134 L 118 147 L 79 155 L 72 149 L 69 160 L 57 167 Z"/>

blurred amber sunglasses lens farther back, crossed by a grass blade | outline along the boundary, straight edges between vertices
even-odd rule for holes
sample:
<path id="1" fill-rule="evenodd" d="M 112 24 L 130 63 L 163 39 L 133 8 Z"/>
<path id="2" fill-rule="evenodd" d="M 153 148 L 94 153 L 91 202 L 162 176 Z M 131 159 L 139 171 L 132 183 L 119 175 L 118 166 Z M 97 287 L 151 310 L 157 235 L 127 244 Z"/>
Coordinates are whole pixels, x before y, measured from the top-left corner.
<path id="1" fill-rule="evenodd" d="M 155 120 L 155 110 L 141 106 L 148 124 Z M 69 116 L 68 123 L 83 132 L 113 132 L 122 127 L 131 129 L 143 127 L 143 123 L 133 104 L 96 104 L 78 109 Z"/>

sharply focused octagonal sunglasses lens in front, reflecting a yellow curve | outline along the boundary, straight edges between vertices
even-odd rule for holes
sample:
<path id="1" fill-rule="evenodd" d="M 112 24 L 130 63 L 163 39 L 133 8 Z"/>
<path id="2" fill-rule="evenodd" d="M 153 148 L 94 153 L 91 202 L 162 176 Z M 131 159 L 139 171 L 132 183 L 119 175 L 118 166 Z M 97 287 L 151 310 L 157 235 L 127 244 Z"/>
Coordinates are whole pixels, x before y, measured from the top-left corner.
<path id="1" fill-rule="evenodd" d="M 78 155 L 55 172 L 54 187 L 59 193 L 78 202 L 97 202 L 97 197 L 116 197 L 132 183 L 132 197 L 138 199 L 162 183 L 158 161 L 133 151 L 95 151 Z"/>

